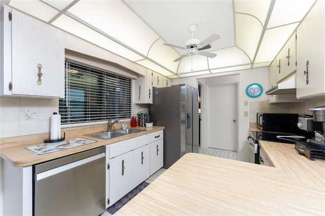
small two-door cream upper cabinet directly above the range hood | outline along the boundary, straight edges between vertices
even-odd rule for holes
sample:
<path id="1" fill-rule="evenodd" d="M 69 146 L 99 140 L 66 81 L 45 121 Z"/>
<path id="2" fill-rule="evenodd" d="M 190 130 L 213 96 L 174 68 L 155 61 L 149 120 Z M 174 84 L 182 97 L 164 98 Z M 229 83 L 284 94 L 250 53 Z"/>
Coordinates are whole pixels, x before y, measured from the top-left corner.
<path id="1" fill-rule="evenodd" d="M 284 45 L 277 56 L 276 82 L 296 71 L 296 33 Z"/>

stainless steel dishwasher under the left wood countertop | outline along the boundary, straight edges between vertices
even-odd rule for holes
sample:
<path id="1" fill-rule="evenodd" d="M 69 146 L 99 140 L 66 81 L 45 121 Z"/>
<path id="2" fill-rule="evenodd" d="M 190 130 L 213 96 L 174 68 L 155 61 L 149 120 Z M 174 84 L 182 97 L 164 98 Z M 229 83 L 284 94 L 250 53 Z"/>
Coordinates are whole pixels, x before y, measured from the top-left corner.
<path id="1" fill-rule="evenodd" d="M 105 211 L 105 147 L 33 166 L 33 215 Z"/>

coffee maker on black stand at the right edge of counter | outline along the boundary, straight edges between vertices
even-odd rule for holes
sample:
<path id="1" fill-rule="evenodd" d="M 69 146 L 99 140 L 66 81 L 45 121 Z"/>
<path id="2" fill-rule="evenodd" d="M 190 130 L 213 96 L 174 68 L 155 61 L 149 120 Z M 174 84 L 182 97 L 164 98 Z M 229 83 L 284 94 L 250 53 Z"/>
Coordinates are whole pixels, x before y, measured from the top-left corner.
<path id="1" fill-rule="evenodd" d="M 312 119 L 309 117 L 299 117 L 298 127 L 306 131 L 314 131 L 315 138 L 307 141 L 296 141 L 296 150 L 299 154 L 306 156 L 310 160 L 325 160 L 325 106 L 310 109 Z M 319 134 L 319 136 L 317 136 Z"/>

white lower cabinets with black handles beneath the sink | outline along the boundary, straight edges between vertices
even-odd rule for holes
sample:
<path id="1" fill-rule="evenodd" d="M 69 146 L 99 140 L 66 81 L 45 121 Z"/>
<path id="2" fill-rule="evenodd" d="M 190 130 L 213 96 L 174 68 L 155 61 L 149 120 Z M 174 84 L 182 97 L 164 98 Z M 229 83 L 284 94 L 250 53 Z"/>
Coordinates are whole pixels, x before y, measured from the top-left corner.
<path id="1" fill-rule="evenodd" d="M 106 208 L 163 167 L 164 130 L 106 146 Z"/>

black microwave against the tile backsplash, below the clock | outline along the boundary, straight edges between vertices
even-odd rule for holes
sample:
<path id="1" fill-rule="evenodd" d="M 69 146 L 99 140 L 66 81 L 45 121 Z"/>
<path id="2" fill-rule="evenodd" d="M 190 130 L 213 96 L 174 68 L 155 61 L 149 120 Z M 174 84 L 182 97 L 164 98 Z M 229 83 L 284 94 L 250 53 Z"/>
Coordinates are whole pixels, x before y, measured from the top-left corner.
<path id="1" fill-rule="evenodd" d="M 256 126 L 263 131 L 295 133 L 299 130 L 298 114 L 257 113 Z"/>

